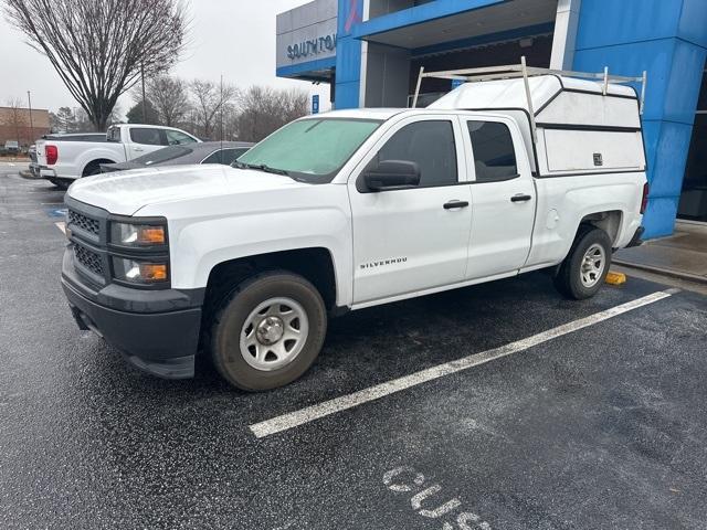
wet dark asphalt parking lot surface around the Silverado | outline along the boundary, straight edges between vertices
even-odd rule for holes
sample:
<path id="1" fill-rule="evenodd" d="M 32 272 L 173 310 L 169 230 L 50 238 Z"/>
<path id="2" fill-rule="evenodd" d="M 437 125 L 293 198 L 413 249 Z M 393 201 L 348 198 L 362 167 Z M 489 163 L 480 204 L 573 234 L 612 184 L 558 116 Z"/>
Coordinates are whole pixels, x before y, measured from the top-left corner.
<path id="1" fill-rule="evenodd" d="M 15 171 L 2 528 L 707 528 L 707 297 L 630 278 L 573 303 L 538 273 L 338 319 L 281 390 L 163 381 L 76 328 L 63 193 Z"/>

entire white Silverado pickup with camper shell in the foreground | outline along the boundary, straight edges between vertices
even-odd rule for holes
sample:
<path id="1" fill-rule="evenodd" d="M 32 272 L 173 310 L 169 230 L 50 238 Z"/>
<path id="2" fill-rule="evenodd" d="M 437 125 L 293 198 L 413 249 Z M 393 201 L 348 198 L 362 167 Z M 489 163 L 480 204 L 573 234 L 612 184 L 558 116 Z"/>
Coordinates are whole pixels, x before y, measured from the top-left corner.
<path id="1" fill-rule="evenodd" d="M 537 269 L 590 297 L 612 251 L 640 243 L 647 198 L 636 94 L 604 92 L 468 83 L 433 108 L 296 120 L 235 168 L 82 179 L 66 194 L 73 315 L 154 374 L 191 377 L 202 352 L 262 391 L 299 378 L 348 310 Z"/>

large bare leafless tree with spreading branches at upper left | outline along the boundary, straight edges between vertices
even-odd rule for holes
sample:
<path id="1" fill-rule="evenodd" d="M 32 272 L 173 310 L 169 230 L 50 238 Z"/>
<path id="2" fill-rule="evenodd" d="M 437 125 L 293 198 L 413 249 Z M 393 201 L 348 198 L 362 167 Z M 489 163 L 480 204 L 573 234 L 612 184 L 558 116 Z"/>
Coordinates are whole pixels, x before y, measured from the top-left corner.
<path id="1" fill-rule="evenodd" d="M 140 77 L 166 72 L 187 32 L 186 0 L 6 0 L 4 12 L 44 53 L 105 130 L 118 97 Z"/>

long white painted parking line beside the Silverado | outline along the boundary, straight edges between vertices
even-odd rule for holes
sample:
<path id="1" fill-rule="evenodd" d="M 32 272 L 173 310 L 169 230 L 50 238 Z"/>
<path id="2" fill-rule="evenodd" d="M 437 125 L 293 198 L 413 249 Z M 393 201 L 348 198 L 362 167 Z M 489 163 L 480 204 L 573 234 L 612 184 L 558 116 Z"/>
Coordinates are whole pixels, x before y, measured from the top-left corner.
<path id="1" fill-rule="evenodd" d="M 493 350 L 474 353 L 473 356 L 468 356 L 456 361 L 445 362 L 444 364 L 428 368 L 426 370 L 421 370 L 403 378 L 394 379 L 386 383 L 377 384 L 376 386 L 370 386 L 368 389 L 354 392 L 352 394 L 342 395 L 334 400 L 307 406 L 299 411 L 273 417 L 272 420 L 255 423 L 251 425 L 250 428 L 258 438 L 287 431 L 298 425 L 304 425 L 305 423 L 313 422 L 320 417 L 336 414 L 337 412 L 341 412 L 347 409 L 352 409 L 369 401 L 378 400 L 380 398 L 400 392 L 411 386 L 426 383 L 428 381 L 440 379 L 445 375 L 451 375 L 452 373 L 461 372 L 462 370 L 467 370 L 473 367 L 478 367 L 479 364 L 485 364 L 489 361 L 494 361 L 513 353 L 525 351 L 528 348 L 532 348 L 534 346 L 541 344 L 563 335 L 578 331 L 589 326 L 593 326 L 594 324 L 609 320 L 610 318 L 616 317 L 624 312 L 632 311 L 640 307 L 647 306 L 648 304 L 656 303 L 669 297 L 671 295 L 674 295 L 675 293 L 679 293 L 679 289 L 667 289 L 664 292 L 653 293 L 648 296 L 644 296 L 643 298 L 637 298 L 635 300 L 627 301 L 626 304 L 622 304 L 604 311 L 597 312 L 589 317 L 580 318 L 579 320 L 574 320 L 569 324 L 563 324 L 562 326 L 558 326 L 557 328 L 548 329 L 547 331 L 542 331 L 531 337 L 510 342 L 509 344 L 505 344 L 499 348 L 494 348 Z"/>

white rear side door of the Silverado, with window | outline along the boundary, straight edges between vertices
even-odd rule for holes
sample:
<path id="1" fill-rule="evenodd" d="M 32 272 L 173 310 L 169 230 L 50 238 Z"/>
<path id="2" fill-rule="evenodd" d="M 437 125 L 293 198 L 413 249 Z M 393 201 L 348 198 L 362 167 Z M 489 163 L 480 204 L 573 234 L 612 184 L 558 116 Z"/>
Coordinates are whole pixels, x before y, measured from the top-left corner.
<path id="1" fill-rule="evenodd" d="M 517 271 L 530 252 L 537 202 L 520 131 L 510 119 L 460 119 L 473 181 L 466 279 Z"/>

